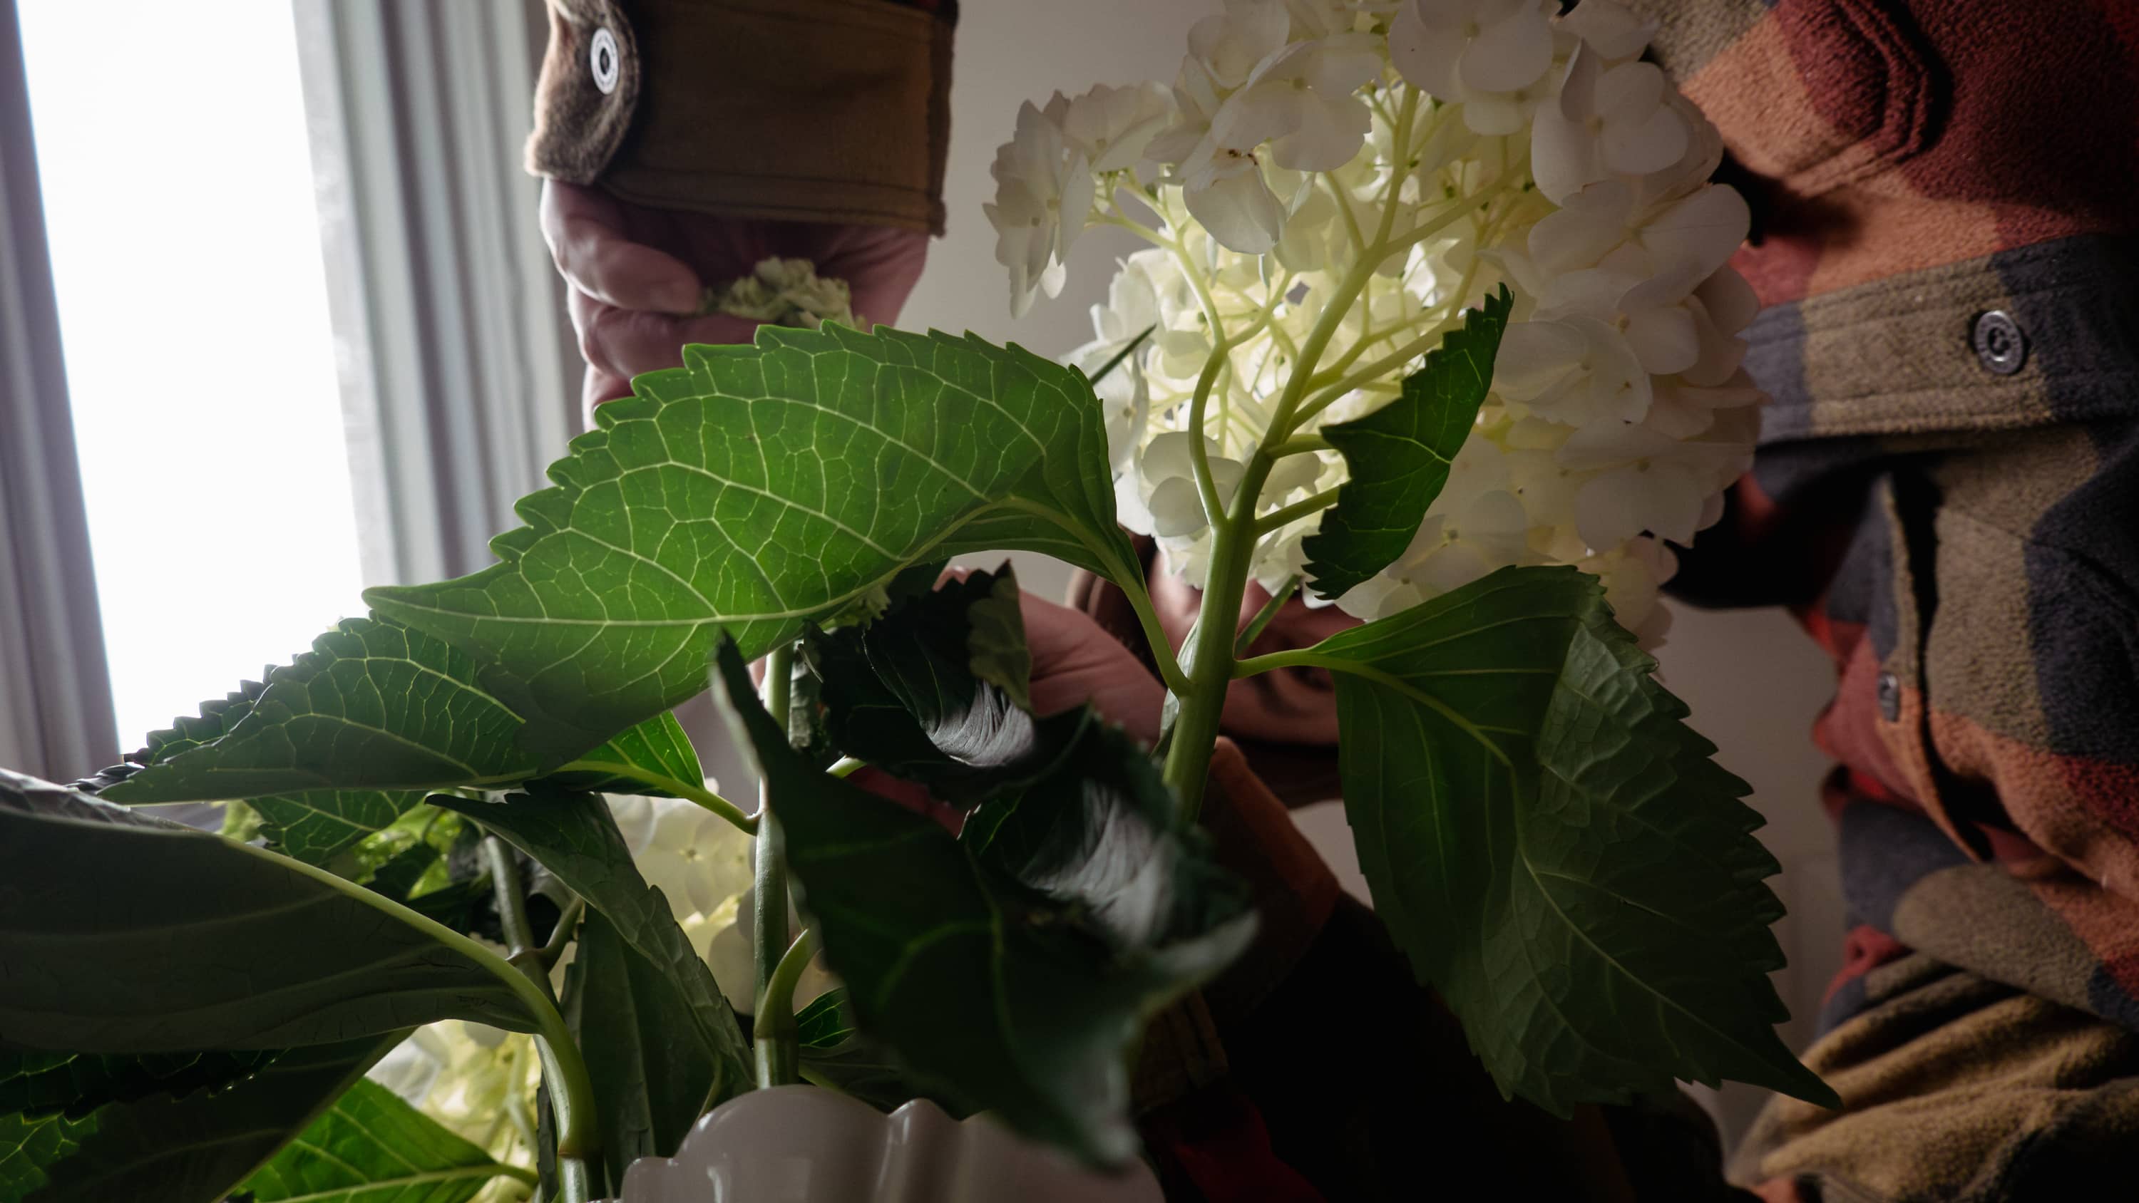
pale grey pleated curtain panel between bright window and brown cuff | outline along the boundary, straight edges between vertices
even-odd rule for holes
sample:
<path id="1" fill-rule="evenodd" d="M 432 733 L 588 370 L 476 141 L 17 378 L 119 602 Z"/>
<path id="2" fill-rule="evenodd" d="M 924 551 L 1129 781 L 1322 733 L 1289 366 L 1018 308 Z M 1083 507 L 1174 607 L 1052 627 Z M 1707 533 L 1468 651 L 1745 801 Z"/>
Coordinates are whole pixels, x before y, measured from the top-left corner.
<path id="1" fill-rule="evenodd" d="M 295 0 L 368 583 L 490 564 L 578 429 L 520 167 L 539 0 Z"/>

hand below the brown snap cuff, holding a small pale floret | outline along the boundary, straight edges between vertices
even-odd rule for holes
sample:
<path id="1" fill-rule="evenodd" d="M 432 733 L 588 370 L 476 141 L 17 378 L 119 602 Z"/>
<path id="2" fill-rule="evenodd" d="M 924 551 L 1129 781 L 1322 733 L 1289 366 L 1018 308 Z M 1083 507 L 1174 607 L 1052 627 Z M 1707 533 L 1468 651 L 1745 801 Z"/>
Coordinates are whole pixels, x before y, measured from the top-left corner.
<path id="1" fill-rule="evenodd" d="M 755 321 L 693 316 L 708 284 L 766 259 L 809 259 L 847 282 L 858 318 L 894 323 L 928 256 L 922 231 L 655 209 L 556 179 L 541 190 L 541 233 L 569 286 L 588 415 L 629 395 L 640 372 L 682 363 L 687 342 L 753 338 Z"/>

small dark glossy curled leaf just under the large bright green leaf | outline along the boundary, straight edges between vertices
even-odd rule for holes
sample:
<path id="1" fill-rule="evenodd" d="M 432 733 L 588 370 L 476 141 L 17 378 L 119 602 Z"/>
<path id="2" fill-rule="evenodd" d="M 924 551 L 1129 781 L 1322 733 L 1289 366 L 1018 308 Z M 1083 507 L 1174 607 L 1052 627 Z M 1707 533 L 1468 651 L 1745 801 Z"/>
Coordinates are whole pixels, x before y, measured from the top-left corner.
<path id="1" fill-rule="evenodd" d="M 971 573 L 868 626 L 813 632 L 806 658 L 832 744 L 958 806 L 1050 771 L 1087 712 L 1029 714 L 1031 656 L 1016 607 L 1007 568 Z"/>

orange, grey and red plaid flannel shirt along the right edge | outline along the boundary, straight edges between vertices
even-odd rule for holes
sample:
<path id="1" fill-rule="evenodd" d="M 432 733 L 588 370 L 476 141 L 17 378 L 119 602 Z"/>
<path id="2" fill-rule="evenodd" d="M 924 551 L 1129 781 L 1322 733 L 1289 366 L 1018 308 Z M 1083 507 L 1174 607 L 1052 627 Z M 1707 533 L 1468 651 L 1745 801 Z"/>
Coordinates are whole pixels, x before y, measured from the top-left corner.
<path id="1" fill-rule="evenodd" d="M 1857 929 L 1735 1177 L 2090 1199 L 2139 1165 L 2139 4 L 1636 0 L 1754 201 L 1756 468 L 1681 588 L 1788 603 Z"/>

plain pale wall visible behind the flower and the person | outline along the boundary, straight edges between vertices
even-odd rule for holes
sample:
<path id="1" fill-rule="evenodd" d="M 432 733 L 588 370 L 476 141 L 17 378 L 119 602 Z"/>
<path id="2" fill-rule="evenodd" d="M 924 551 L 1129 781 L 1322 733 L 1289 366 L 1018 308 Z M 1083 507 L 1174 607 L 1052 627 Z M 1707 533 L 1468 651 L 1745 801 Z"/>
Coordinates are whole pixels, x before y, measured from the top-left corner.
<path id="1" fill-rule="evenodd" d="M 1046 100 L 1057 88 L 1170 81 L 1187 28 L 1215 9 L 1215 0 L 986 0 L 965 6 L 945 179 L 950 235 L 930 250 L 928 271 L 901 325 L 971 329 L 1044 355 L 1091 338 L 1087 308 L 1106 295 L 1114 256 L 1136 244 L 1121 231 L 1087 233 L 1072 252 L 1063 295 L 1012 321 L 1007 280 L 995 263 L 995 231 L 980 212 L 992 197 L 988 162 L 1027 98 Z M 1029 588 L 1046 592 L 1059 592 L 1065 577 L 1059 564 L 1022 556 L 1018 571 Z M 1833 673 L 1780 609 L 1703 613 L 1681 607 L 1660 658 L 1668 686 L 1694 707 L 1694 724 L 1720 746 L 1724 767 L 1752 782 L 1752 803 L 1769 816 L 1760 838 L 1784 863 L 1773 885 L 1790 906 L 1778 929 L 1790 955 L 1790 970 L 1778 979 L 1792 1011 L 1784 1036 L 1803 1047 L 1842 951 L 1833 833 L 1816 793 L 1827 761 L 1810 739 Z M 1341 814 L 1307 814 L 1303 827 L 1356 882 Z M 1363 885 L 1358 893 L 1365 895 Z M 1758 1100 L 1754 1090 L 1728 1088 L 1722 1098 L 1726 1126 L 1739 1130 Z"/>

